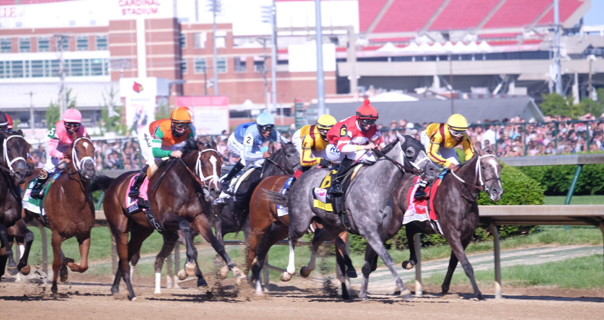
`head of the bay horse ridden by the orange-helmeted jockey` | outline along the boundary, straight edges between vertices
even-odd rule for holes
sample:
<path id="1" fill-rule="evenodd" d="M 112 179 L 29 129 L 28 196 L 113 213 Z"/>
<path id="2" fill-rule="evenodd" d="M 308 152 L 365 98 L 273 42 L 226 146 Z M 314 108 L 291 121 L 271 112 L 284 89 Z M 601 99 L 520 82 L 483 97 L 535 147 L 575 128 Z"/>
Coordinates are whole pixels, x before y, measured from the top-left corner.
<path id="1" fill-rule="evenodd" d="M 210 193 L 211 199 L 217 198 L 222 191 L 219 176 L 222 158 L 216 150 L 216 142 L 200 142 L 188 139 L 182 149 L 182 157 L 183 160 L 186 160 L 186 163 L 193 163 L 194 161 L 195 175 L 204 183 L 204 188 Z M 188 158 L 191 158 L 191 160 L 188 160 Z M 193 158 L 195 159 L 193 160 Z"/>

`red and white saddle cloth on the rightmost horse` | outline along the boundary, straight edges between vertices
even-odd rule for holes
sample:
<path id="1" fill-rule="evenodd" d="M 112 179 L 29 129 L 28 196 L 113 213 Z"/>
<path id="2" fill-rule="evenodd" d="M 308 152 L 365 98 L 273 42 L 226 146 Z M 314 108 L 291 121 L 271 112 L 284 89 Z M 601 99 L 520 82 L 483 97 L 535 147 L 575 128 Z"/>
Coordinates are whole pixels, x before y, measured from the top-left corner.
<path id="1" fill-rule="evenodd" d="M 421 222 L 428 219 L 438 221 L 434 210 L 434 196 L 436 195 L 436 190 L 439 188 L 440 181 L 442 180 L 438 178 L 434 181 L 432 186 L 426 187 L 424 191 L 430 195 L 429 199 L 417 200 L 415 198 L 415 193 L 417 187 L 419 187 L 420 180 L 422 180 L 420 177 L 413 178 L 413 187 L 411 187 L 407 193 L 407 210 L 405 211 L 405 216 L 403 216 L 403 224 L 408 224 L 411 221 Z"/>

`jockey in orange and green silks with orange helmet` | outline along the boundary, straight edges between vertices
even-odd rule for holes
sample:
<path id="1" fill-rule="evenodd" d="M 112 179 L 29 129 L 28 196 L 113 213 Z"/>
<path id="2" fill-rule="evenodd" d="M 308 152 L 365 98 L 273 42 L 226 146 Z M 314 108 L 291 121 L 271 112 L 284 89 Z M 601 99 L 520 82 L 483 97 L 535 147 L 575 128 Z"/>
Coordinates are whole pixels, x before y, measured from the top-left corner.
<path id="1" fill-rule="evenodd" d="M 138 190 L 147 177 L 147 169 L 151 172 L 157 168 L 156 162 L 163 157 L 182 157 L 180 151 L 189 138 L 195 138 L 195 127 L 191 110 L 187 107 L 178 107 L 170 115 L 170 119 L 161 119 L 151 122 L 149 130 L 141 130 L 138 134 L 138 143 L 146 165 L 138 174 L 137 181 L 130 188 L 128 196 L 136 198 L 140 195 Z"/>

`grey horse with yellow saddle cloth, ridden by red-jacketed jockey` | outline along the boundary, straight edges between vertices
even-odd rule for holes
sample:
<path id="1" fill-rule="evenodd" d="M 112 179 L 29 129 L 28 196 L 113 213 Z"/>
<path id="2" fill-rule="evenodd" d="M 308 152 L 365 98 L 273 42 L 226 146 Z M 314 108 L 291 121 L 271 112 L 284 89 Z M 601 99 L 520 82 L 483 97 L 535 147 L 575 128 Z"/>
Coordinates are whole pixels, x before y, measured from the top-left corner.
<path id="1" fill-rule="evenodd" d="M 390 254 L 384 247 L 380 231 L 388 227 L 392 216 L 391 193 L 400 183 L 405 172 L 415 172 L 434 180 L 437 166 L 428 160 L 419 141 L 411 136 L 397 133 L 397 140 L 384 149 L 385 155 L 376 163 L 360 169 L 345 194 L 344 207 L 349 215 L 350 231 L 367 240 L 371 248 L 382 258 L 390 269 L 403 300 L 411 300 L 413 295 L 399 278 Z M 417 152 L 416 150 L 420 150 Z M 413 169 L 415 168 L 415 169 Z M 326 212 L 313 207 L 313 187 L 320 186 L 326 176 L 324 169 L 308 171 L 292 186 L 288 196 L 268 193 L 272 201 L 289 205 L 289 264 L 281 279 L 291 278 L 295 272 L 295 242 L 304 234 L 312 221 L 320 222 L 330 234 L 338 234 L 346 228 L 337 213 Z M 288 202 L 289 200 L 289 202 Z M 315 242 L 315 238 L 313 242 Z M 313 245 L 313 254 L 315 246 Z M 367 300 L 366 296 L 359 296 Z"/>

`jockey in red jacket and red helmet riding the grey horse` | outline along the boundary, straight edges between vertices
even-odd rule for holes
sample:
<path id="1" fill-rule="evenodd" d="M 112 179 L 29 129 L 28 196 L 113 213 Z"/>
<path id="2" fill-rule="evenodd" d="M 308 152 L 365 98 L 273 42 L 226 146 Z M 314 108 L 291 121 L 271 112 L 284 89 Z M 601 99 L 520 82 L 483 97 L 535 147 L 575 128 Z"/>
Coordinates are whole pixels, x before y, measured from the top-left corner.
<path id="1" fill-rule="evenodd" d="M 327 132 L 329 145 L 326 148 L 326 158 L 330 162 L 340 163 L 331 190 L 333 195 L 342 194 L 341 172 L 353 162 L 376 162 L 371 150 L 379 151 L 385 146 L 382 133 L 376 126 L 377 110 L 369 103 L 369 99 L 365 99 L 363 105 L 356 110 L 356 116 L 338 122 Z"/>

